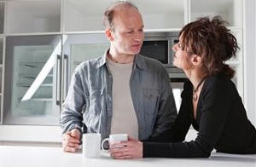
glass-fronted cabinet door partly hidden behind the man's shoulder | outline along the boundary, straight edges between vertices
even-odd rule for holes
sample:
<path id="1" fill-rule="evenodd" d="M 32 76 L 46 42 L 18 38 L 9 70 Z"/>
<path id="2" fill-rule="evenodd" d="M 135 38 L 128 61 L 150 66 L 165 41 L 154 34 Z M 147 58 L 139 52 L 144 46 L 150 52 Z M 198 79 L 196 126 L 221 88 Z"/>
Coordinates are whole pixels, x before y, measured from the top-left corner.
<path id="1" fill-rule="evenodd" d="M 63 48 L 64 57 L 67 58 L 67 63 L 63 63 L 64 71 L 67 71 L 67 75 L 63 77 L 66 78 L 63 81 L 62 90 L 64 99 L 74 69 L 84 60 L 102 56 L 108 48 L 108 39 L 104 33 L 67 35 L 67 41 Z M 67 64 L 67 67 L 65 67 L 65 64 Z"/>

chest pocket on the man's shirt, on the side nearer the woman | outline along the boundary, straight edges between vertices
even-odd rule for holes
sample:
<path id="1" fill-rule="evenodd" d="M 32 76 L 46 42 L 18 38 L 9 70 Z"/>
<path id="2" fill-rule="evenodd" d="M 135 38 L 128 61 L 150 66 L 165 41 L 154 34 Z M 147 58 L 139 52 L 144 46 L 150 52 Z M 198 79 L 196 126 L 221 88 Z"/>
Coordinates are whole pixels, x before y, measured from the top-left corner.
<path id="1" fill-rule="evenodd" d="M 153 115 L 159 107 L 159 89 L 143 89 L 144 112 Z"/>

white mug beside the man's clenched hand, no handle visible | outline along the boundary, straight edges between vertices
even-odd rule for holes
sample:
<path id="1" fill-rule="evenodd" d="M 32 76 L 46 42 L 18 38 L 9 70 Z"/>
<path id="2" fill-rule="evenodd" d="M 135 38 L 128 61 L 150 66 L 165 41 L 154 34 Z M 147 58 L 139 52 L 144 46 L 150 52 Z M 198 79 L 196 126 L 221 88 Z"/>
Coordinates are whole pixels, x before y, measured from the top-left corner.
<path id="1" fill-rule="evenodd" d="M 87 133 L 83 135 L 83 157 L 99 158 L 101 153 L 101 134 Z"/>

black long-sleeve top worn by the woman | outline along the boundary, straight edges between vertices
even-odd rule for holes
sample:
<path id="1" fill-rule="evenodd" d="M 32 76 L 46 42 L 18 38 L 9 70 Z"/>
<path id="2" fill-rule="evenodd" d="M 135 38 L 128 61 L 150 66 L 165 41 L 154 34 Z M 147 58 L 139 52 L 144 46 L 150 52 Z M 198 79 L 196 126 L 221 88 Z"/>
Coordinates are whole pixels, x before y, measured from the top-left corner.
<path id="1" fill-rule="evenodd" d="M 182 104 L 172 130 L 143 142 L 143 157 L 207 158 L 222 153 L 256 153 L 256 130 L 247 119 L 236 85 L 219 73 L 207 78 L 193 112 L 193 85 L 183 86 Z M 190 125 L 195 141 L 184 141 Z"/>

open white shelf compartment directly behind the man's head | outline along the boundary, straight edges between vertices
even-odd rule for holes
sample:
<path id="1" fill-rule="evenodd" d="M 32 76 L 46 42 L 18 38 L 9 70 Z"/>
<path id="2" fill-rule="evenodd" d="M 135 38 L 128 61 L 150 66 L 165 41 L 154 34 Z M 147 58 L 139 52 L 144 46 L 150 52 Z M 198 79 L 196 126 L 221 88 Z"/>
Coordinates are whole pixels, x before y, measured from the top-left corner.
<path id="1" fill-rule="evenodd" d="M 102 15 L 113 1 L 65 0 L 64 31 L 102 31 Z M 180 28 L 188 22 L 187 0 L 131 0 L 143 14 L 146 31 Z M 75 18 L 75 19 L 74 19 Z"/>

